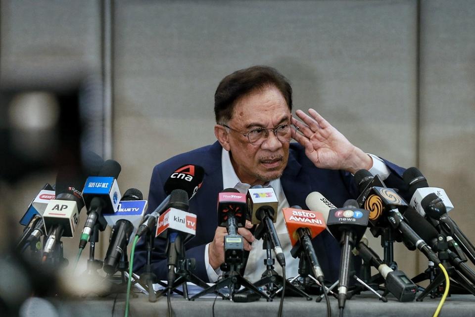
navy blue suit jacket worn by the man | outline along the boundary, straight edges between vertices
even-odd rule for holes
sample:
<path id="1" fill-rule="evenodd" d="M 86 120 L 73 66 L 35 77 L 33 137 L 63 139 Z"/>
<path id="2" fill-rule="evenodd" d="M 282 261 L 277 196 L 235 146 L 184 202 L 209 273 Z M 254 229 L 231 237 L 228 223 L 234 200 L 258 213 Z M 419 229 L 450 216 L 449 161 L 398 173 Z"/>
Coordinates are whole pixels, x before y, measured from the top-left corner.
<path id="1" fill-rule="evenodd" d="M 217 199 L 218 192 L 223 189 L 221 154 L 222 147 L 219 142 L 215 142 L 156 165 L 148 194 L 147 212 L 150 213 L 165 199 L 164 182 L 177 168 L 185 164 L 203 167 L 205 175 L 202 186 L 190 199 L 189 211 L 197 216 L 196 235 L 185 244 L 185 247 L 187 258 L 196 259 L 194 274 L 204 281 L 209 281 L 204 263 L 204 250 L 206 244 L 213 240 L 218 226 Z M 390 162 L 385 163 L 391 171 L 390 177 L 385 181 L 386 185 L 396 188 L 404 186 L 401 178 L 404 170 Z M 288 163 L 281 177 L 281 183 L 289 206 L 298 205 L 303 209 L 308 209 L 305 198 L 312 191 L 320 192 L 337 207 L 342 206 L 347 199 L 355 199 L 358 195 L 350 173 L 315 167 L 305 155 L 305 149 L 298 143 L 290 143 Z M 166 242 L 166 239 L 156 238 L 152 253 L 153 270 L 160 280 L 166 280 L 167 276 Z M 312 242 L 325 278 L 329 281 L 337 280 L 340 263 L 338 242 L 327 230 L 315 237 Z M 140 273 L 145 264 L 146 250 L 142 238 L 135 251 L 134 271 Z"/>

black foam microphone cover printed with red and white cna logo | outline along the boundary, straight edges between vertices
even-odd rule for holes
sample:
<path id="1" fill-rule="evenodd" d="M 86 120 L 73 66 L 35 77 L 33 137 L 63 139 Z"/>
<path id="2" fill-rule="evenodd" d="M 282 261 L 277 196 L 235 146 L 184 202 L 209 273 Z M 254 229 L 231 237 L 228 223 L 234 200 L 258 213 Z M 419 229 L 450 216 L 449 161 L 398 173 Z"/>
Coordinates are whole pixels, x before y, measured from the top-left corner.
<path id="1" fill-rule="evenodd" d="M 174 189 L 183 189 L 191 198 L 201 186 L 203 177 L 204 169 L 201 166 L 186 164 L 175 170 L 163 187 L 167 195 Z"/>

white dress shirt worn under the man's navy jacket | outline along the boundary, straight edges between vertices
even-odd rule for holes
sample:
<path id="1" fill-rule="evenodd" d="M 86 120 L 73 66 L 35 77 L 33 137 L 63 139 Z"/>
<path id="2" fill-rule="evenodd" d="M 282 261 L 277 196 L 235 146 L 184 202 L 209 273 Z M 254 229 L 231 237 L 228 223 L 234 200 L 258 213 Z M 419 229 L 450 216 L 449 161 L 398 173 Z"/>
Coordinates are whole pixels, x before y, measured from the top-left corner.
<path id="1" fill-rule="evenodd" d="M 384 162 L 377 156 L 368 154 L 373 158 L 373 166 L 370 169 L 370 173 L 374 176 L 379 174 L 382 180 L 385 180 L 389 176 L 389 170 Z M 231 158 L 229 152 L 223 148 L 221 156 L 221 167 L 223 170 L 223 189 L 224 188 L 236 188 L 241 193 L 246 193 L 247 189 L 250 188 L 250 184 L 243 183 L 239 180 L 236 172 L 234 170 L 233 164 L 231 163 Z M 298 274 L 298 261 L 299 259 L 294 259 L 290 255 L 290 250 L 292 245 L 290 244 L 290 238 L 288 236 L 287 227 L 285 226 L 285 221 L 282 213 L 283 208 L 290 207 L 285 197 L 284 190 L 282 189 L 281 180 L 277 179 L 270 181 L 269 186 L 274 188 L 276 196 L 279 200 L 279 207 L 277 211 L 277 221 L 275 223 L 277 235 L 282 245 L 282 250 L 285 255 L 285 276 L 293 277 Z M 246 270 L 244 272 L 244 277 L 251 282 L 255 282 L 261 278 L 261 274 L 266 270 L 264 265 L 264 259 L 267 258 L 266 250 L 262 248 L 263 240 L 254 240 L 252 242 L 252 250 L 249 252 L 249 258 L 247 260 Z M 221 270 L 218 268 L 214 270 L 209 264 L 208 258 L 208 248 L 209 243 L 204 249 L 204 261 L 206 266 L 206 272 L 210 282 L 215 282 L 218 280 L 219 275 L 221 275 Z M 272 255 L 275 258 L 274 251 Z M 275 264 L 276 271 L 281 274 L 282 268 L 279 263 L 276 261 Z"/>

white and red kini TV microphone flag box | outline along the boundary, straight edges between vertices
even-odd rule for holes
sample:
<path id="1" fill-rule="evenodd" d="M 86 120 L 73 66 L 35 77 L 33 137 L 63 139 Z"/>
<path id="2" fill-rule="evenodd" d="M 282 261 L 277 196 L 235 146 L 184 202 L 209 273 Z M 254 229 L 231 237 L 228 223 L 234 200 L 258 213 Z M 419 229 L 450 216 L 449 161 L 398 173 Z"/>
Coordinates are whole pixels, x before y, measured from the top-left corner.
<path id="1" fill-rule="evenodd" d="M 167 237 L 167 229 L 195 235 L 196 215 L 180 209 L 169 208 L 158 217 L 155 236 Z"/>

